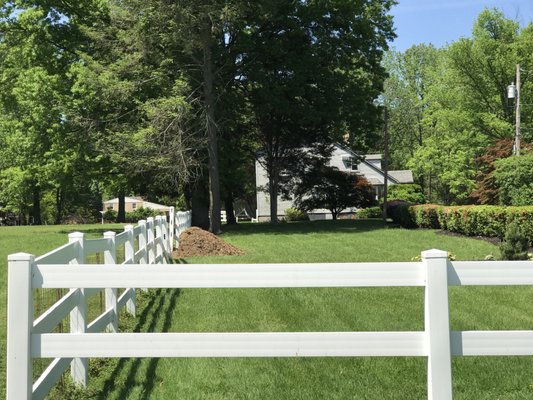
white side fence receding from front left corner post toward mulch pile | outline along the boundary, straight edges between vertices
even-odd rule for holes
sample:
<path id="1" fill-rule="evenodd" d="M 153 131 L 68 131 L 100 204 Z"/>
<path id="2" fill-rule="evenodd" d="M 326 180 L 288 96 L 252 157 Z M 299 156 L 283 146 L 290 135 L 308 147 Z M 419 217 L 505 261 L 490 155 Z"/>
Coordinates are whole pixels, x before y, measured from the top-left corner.
<path id="1" fill-rule="evenodd" d="M 174 213 L 174 210 L 171 209 Z M 179 213 L 178 213 L 179 214 Z M 188 213 L 190 217 L 190 213 Z M 174 215 L 172 215 L 174 218 Z M 189 223 L 190 225 L 190 223 Z M 63 295 L 49 309 L 45 310 L 37 319 L 33 320 L 33 289 L 43 289 L 40 284 L 27 285 L 25 276 L 21 275 L 24 266 L 32 268 L 44 265 L 60 264 L 67 269 L 78 269 L 86 266 L 98 271 L 123 268 L 130 274 L 136 263 L 142 263 L 146 268 L 157 268 L 153 264 L 164 264 L 172 251 L 175 221 L 166 217 L 147 218 L 139 221 L 138 225 L 125 226 L 124 231 L 105 232 L 103 238 L 87 239 L 83 233 L 75 232 L 69 235 L 69 243 L 52 250 L 43 256 L 35 258 L 32 255 L 19 253 L 9 256 L 8 272 L 8 351 L 7 351 L 7 398 L 8 399 L 43 399 L 57 383 L 66 369 L 71 369 L 73 380 L 86 385 L 88 380 L 88 365 L 85 356 L 49 357 L 53 361 L 41 376 L 32 383 L 32 358 L 28 349 L 35 351 L 31 340 L 39 335 L 51 333 L 67 317 L 70 319 L 70 333 L 68 336 L 87 337 L 102 331 L 118 331 L 118 313 L 125 308 L 135 316 L 135 285 L 102 284 L 86 288 L 84 285 L 72 285 L 70 282 L 61 288 L 70 290 Z M 124 261 L 117 262 L 117 249 L 123 249 Z M 88 257 L 94 254 L 103 255 L 105 265 L 86 264 Z M 30 272 L 31 273 L 31 272 Z M 128 282 L 129 283 L 129 282 Z M 134 283 L 134 282 L 132 282 Z M 59 287 L 58 287 L 59 288 Z M 72 289 L 73 288 L 73 289 Z M 124 288 L 120 297 L 118 288 Z M 105 290 L 105 311 L 93 321 L 87 320 L 87 298 Z M 27 333 L 23 333 L 26 331 Z M 107 334 L 106 334 L 107 336 Z M 33 338 L 33 339 L 30 339 Z M 30 342 L 28 342 L 30 340 Z M 48 357 L 47 357 L 48 358 Z"/>

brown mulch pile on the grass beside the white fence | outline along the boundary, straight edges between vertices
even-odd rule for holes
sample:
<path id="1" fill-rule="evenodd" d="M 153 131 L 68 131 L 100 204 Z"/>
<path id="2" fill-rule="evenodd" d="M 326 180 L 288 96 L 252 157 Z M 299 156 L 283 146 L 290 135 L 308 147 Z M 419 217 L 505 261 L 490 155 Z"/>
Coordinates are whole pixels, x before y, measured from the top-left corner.
<path id="1" fill-rule="evenodd" d="M 211 232 L 200 228 L 189 228 L 180 235 L 179 248 L 173 258 L 195 256 L 239 256 L 244 251 L 226 243 Z"/>

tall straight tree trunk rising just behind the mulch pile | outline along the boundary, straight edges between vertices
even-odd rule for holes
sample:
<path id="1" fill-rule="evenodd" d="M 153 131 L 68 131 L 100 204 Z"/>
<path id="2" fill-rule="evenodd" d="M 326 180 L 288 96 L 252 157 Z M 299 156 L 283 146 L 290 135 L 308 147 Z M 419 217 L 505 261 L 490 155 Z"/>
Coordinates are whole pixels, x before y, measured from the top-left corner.
<path id="1" fill-rule="evenodd" d="M 207 124 L 207 150 L 209 154 L 209 230 L 214 234 L 220 229 L 220 179 L 218 171 L 218 134 L 215 119 L 214 65 L 212 54 L 211 22 L 207 21 L 202 32 L 203 88 Z"/>

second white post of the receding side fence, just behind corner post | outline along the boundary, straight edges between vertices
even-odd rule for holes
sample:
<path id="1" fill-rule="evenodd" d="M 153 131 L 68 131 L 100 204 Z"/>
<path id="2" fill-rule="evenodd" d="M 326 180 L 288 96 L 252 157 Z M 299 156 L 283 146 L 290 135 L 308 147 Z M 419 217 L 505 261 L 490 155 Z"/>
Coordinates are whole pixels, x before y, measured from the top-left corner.
<path id="1" fill-rule="evenodd" d="M 78 255 L 72 260 L 71 264 L 85 263 L 85 234 L 73 232 L 68 235 L 69 243 L 78 243 Z M 87 329 L 87 299 L 85 298 L 85 289 L 78 290 L 78 304 L 70 312 L 70 333 L 85 333 Z M 74 383 L 87 386 L 89 379 L 88 365 L 86 358 L 74 358 L 70 363 L 70 375 Z"/>

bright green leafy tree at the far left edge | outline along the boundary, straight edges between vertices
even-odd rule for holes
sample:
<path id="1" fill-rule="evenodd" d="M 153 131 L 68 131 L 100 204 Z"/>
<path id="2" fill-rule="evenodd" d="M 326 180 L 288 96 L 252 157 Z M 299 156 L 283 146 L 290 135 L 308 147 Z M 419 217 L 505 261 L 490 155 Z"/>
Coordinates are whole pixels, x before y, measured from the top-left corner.
<path id="1" fill-rule="evenodd" d="M 83 140 L 66 118 L 72 84 L 68 70 L 83 43 L 78 22 L 90 20 L 98 10 L 97 1 L 0 6 L 0 186 L 11 188 L 0 190 L 0 201 L 17 199 L 19 211 L 29 212 L 36 224 L 42 222 L 41 200 L 47 192 L 56 193 L 55 222 L 61 220 L 66 199 L 75 203 L 78 197 L 72 176 L 84 173 L 84 168 L 75 171 L 84 165 L 77 151 Z M 13 177 L 16 188 L 9 181 Z"/>

